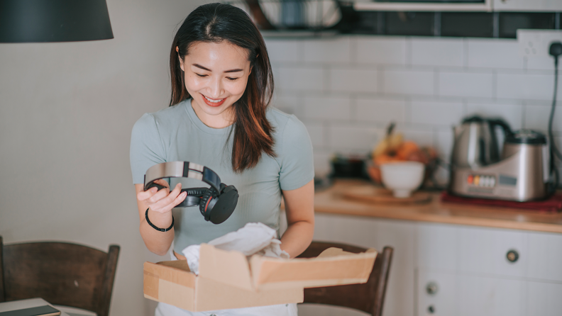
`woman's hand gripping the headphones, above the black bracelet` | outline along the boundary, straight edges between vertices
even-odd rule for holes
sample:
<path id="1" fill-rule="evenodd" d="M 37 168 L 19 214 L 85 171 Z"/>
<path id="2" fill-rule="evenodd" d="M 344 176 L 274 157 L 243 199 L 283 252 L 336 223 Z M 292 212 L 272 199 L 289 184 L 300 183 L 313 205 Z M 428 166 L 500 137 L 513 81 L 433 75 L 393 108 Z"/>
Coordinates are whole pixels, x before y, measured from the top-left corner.
<path id="1" fill-rule="evenodd" d="M 158 190 L 158 188 L 153 187 L 147 191 L 139 191 L 137 193 L 138 202 L 143 202 L 154 212 L 160 214 L 170 212 L 172 208 L 182 203 L 187 196 L 187 192 L 181 192 L 181 183 L 177 184 L 174 190 L 170 192 L 170 185 L 165 180 L 158 179 L 154 182 L 155 184 L 160 184 L 160 186 L 165 186 L 165 188 Z"/>

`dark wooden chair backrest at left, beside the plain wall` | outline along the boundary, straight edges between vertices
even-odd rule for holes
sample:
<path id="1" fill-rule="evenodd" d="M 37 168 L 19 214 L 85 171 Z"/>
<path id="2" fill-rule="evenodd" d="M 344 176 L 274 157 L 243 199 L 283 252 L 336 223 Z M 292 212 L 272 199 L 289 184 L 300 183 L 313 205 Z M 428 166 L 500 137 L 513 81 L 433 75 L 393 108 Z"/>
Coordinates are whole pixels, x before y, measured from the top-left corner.
<path id="1" fill-rule="evenodd" d="M 109 315 L 119 246 L 109 252 L 66 242 L 6 244 L 0 236 L 0 302 L 43 298 Z"/>

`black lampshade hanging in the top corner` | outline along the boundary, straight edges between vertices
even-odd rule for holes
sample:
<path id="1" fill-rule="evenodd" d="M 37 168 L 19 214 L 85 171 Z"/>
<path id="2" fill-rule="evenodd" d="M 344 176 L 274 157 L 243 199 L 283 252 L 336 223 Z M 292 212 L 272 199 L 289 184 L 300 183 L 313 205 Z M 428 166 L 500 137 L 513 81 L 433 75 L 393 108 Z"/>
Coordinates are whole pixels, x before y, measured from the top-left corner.
<path id="1" fill-rule="evenodd" d="M 0 43 L 111 38 L 106 0 L 0 0 Z"/>

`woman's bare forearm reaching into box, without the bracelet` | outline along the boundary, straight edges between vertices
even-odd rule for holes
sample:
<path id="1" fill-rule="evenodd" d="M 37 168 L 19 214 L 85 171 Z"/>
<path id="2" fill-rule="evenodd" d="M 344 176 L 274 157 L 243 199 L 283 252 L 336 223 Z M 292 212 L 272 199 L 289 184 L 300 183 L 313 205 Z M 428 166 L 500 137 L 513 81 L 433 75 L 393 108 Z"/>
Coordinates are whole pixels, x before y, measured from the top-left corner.
<path id="1" fill-rule="evenodd" d="M 302 254 L 314 235 L 314 180 L 304 186 L 283 191 L 287 230 L 281 237 L 281 249 L 291 258 Z"/>

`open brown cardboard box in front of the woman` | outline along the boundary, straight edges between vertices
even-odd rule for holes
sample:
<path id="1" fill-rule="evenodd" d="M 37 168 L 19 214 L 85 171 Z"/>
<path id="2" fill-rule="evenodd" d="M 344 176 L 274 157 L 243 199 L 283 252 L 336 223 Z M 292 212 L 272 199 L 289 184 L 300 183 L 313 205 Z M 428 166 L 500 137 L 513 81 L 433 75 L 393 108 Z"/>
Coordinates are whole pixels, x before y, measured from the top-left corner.
<path id="1" fill-rule="evenodd" d="M 192 312 L 302 303 L 304 288 L 365 283 L 377 252 L 351 254 L 329 248 L 316 258 L 250 259 L 202 244 L 199 276 L 187 261 L 144 264 L 145 298 Z"/>

